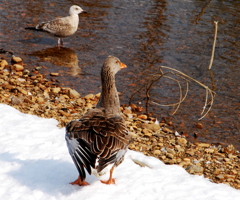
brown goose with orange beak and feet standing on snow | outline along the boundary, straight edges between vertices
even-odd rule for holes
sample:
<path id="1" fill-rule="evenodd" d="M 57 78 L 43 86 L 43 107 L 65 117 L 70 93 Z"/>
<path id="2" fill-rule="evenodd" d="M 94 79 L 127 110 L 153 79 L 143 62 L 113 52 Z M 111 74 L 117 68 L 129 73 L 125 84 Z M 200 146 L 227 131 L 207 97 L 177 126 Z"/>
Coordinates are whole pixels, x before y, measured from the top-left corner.
<path id="1" fill-rule="evenodd" d="M 102 91 L 96 108 L 81 119 L 66 126 L 66 143 L 69 154 L 79 172 L 72 185 L 89 185 L 85 170 L 101 174 L 110 166 L 110 177 L 104 184 L 115 184 L 114 168 L 122 163 L 130 141 L 130 134 L 120 111 L 115 74 L 127 66 L 118 58 L 108 56 L 101 69 Z M 109 168 L 110 168 L 109 167 Z"/>

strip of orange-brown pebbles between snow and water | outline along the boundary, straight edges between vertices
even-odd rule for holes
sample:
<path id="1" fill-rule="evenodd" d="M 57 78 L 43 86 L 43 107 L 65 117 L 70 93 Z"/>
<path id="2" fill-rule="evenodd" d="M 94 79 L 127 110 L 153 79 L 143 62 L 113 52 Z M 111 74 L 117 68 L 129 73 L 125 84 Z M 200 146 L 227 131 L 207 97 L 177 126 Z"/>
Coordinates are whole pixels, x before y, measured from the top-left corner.
<path id="1" fill-rule="evenodd" d="M 23 113 L 54 118 L 59 127 L 79 119 L 94 107 L 100 94 L 84 97 L 71 88 L 60 87 L 52 73 L 47 80 L 41 68 L 24 69 L 22 59 L 13 57 L 8 63 L 0 59 L 0 103 Z M 225 183 L 240 189 L 240 153 L 233 145 L 192 143 L 172 130 L 172 125 L 154 117 L 137 114 L 135 105 L 121 107 L 132 135 L 129 149 L 160 159 L 165 164 L 176 164 L 190 174 L 203 175 L 215 183 Z"/>

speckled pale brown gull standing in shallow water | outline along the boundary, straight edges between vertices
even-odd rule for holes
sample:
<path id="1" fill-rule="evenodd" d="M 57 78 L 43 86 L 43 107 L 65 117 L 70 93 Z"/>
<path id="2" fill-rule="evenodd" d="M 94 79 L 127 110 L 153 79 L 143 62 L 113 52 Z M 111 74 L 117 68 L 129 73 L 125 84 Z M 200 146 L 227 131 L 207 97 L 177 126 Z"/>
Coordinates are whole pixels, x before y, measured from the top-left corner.
<path id="1" fill-rule="evenodd" d="M 78 29 L 78 14 L 86 13 L 81 7 L 73 5 L 69 9 L 69 16 L 56 18 L 48 22 L 42 22 L 35 27 L 26 27 L 25 29 L 47 32 L 58 37 L 58 46 L 63 45 L 62 38 L 73 35 Z"/>

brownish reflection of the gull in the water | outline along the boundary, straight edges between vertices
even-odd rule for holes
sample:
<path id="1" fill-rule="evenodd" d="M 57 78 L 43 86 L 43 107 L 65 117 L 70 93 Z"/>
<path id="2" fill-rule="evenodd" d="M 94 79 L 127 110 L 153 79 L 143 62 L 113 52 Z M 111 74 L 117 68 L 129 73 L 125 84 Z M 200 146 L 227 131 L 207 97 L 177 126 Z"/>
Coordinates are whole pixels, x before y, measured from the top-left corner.
<path id="1" fill-rule="evenodd" d="M 40 51 L 34 51 L 29 55 L 37 56 L 41 60 L 57 66 L 69 67 L 71 76 L 77 76 L 81 72 L 81 69 L 78 66 L 77 54 L 70 48 L 52 47 Z"/>

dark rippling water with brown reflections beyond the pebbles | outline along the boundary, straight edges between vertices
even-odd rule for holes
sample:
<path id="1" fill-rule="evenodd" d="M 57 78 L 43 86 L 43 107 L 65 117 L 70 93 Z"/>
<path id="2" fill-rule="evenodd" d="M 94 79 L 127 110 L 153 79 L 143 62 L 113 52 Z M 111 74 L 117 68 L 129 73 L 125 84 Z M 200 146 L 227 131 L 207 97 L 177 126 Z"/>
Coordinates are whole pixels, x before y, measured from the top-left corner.
<path id="1" fill-rule="evenodd" d="M 112 54 L 127 64 L 119 72 L 117 87 L 121 103 L 146 86 L 161 65 L 204 83 L 216 92 L 213 107 L 196 128 L 205 101 L 205 90 L 189 84 L 189 93 L 175 115 L 175 108 L 149 104 L 149 112 L 172 121 L 179 132 L 191 140 L 234 144 L 240 149 L 240 2 L 233 0 L 108 0 L 81 1 L 87 10 L 80 15 L 77 33 L 64 40 L 24 29 L 41 21 L 65 16 L 72 1 L 5 0 L 0 2 L 0 47 L 23 58 L 26 68 L 44 66 L 41 71 L 60 72 L 63 86 L 82 95 L 100 91 L 100 68 Z M 208 71 L 214 37 L 214 21 L 219 22 L 218 39 L 211 72 Z M 3 55 L 6 56 L 7 55 Z M 170 74 L 171 75 L 171 74 Z M 174 76 L 173 76 L 174 77 Z M 176 78 L 176 77 L 174 77 Z M 186 84 L 182 81 L 182 88 Z M 126 89 L 127 88 L 127 89 Z M 145 106 L 142 88 L 133 103 Z M 161 104 L 179 99 L 176 81 L 161 78 L 151 87 L 150 100 Z M 198 133 L 197 139 L 193 134 Z"/>

